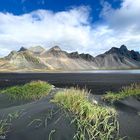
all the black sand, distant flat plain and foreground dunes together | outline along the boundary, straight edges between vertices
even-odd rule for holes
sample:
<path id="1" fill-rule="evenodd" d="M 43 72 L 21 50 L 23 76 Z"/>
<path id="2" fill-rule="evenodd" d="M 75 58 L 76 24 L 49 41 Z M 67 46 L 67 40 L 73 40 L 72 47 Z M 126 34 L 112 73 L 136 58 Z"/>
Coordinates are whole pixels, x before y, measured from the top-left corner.
<path id="1" fill-rule="evenodd" d="M 101 100 L 102 94 L 108 90 L 118 91 L 122 86 L 140 82 L 140 74 L 2 74 L 0 88 L 24 84 L 32 80 L 45 80 L 57 87 L 86 86 L 91 89 L 91 100 L 107 105 Z M 7 140 L 72 140 L 76 128 L 71 124 L 71 116 L 67 115 L 50 100 L 61 88 L 54 89 L 51 94 L 38 101 L 14 101 L 6 95 L 0 95 L 0 119 L 9 113 L 21 112 L 20 117 L 12 121 Z M 94 94 L 93 94 L 94 93 Z M 140 140 L 140 101 L 127 98 L 113 105 L 118 112 L 121 137 Z M 125 138 L 126 140 L 128 138 Z"/>

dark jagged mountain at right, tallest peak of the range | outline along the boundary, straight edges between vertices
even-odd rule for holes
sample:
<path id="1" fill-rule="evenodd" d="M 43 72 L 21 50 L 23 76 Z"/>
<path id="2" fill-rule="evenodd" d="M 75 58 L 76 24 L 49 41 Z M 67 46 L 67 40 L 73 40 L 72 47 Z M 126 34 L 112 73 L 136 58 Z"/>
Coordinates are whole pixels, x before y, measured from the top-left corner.
<path id="1" fill-rule="evenodd" d="M 129 51 L 125 45 L 120 48 L 112 47 L 104 54 L 95 57 L 98 67 L 103 68 L 139 68 L 140 54 Z"/>

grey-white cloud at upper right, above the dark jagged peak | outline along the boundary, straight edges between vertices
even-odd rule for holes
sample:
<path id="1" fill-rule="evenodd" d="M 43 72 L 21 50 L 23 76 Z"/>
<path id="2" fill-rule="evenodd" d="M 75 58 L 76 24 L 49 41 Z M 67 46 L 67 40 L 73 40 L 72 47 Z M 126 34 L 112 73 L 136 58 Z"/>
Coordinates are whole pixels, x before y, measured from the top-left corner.
<path id="1" fill-rule="evenodd" d="M 102 18 L 113 30 L 116 44 L 126 44 L 130 49 L 140 51 L 140 0 L 122 0 L 120 8 L 113 9 L 104 1 Z"/>

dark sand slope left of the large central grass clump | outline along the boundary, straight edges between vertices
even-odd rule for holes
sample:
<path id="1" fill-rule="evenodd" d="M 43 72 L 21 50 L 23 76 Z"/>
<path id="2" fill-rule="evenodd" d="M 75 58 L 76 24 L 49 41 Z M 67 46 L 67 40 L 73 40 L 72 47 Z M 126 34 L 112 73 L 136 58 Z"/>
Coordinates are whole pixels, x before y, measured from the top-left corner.
<path id="1" fill-rule="evenodd" d="M 71 124 L 70 115 L 50 102 L 57 90 L 39 101 L 22 105 L 17 102 L 11 107 L 1 108 L 0 118 L 9 113 L 20 112 L 19 118 L 12 121 L 6 139 L 49 140 L 50 137 L 50 140 L 72 140 L 76 129 L 74 124 Z M 5 106 L 7 103 L 9 104 L 9 101 L 5 100 Z"/>

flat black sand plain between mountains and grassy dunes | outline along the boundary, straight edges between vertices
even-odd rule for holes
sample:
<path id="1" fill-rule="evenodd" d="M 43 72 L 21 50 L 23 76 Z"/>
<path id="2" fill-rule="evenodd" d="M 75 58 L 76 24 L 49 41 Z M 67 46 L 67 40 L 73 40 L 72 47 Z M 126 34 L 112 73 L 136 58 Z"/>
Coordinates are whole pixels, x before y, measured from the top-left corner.
<path id="1" fill-rule="evenodd" d="M 77 86 L 93 94 L 118 91 L 122 86 L 140 82 L 140 74 L 132 73 L 0 73 L 0 88 L 20 85 L 32 80 L 48 81 L 56 87 Z"/>

